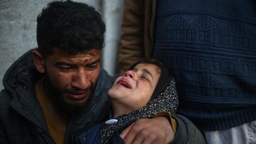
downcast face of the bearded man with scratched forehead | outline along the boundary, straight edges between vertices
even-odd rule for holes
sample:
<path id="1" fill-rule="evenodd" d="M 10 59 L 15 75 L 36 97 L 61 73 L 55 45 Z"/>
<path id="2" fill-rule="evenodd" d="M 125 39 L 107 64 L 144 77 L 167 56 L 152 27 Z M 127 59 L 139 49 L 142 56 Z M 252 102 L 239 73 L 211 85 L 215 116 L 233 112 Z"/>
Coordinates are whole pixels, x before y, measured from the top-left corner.
<path id="1" fill-rule="evenodd" d="M 68 54 L 53 48 L 45 59 L 46 84 L 52 99 L 67 112 L 83 109 L 93 96 L 100 72 L 100 50 Z"/>

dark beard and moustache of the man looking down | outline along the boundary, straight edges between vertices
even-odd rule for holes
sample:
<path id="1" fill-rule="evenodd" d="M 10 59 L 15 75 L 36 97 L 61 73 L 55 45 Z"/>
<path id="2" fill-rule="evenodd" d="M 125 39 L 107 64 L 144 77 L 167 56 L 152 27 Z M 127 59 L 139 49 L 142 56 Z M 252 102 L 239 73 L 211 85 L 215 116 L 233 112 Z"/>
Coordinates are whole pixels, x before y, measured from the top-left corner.
<path id="1" fill-rule="evenodd" d="M 94 90 L 95 88 L 93 88 L 93 86 L 88 87 L 87 89 L 87 94 L 86 94 L 86 99 L 84 102 L 82 103 L 71 103 L 68 102 L 67 100 L 65 100 L 63 94 L 65 92 L 69 92 L 69 91 L 78 91 L 79 89 L 77 88 L 72 88 L 71 90 L 60 90 L 58 88 L 57 85 L 54 85 L 54 83 L 51 81 L 47 71 L 45 73 L 45 77 L 46 77 L 46 87 L 48 87 L 48 90 L 50 90 L 50 93 L 52 94 L 51 96 L 51 100 L 53 101 L 53 103 L 56 105 L 56 107 L 65 113 L 71 114 L 72 112 L 80 112 L 83 109 L 85 109 L 87 103 L 89 103 L 93 96 L 94 96 Z"/>

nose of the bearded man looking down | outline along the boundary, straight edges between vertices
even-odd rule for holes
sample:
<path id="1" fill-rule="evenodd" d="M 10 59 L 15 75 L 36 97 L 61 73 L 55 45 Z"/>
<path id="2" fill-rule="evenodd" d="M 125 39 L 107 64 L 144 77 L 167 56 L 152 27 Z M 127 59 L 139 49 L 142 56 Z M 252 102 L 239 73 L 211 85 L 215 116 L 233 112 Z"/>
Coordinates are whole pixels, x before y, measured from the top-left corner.
<path id="1" fill-rule="evenodd" d="M 78 70 L 78 72 L 74 74 L 71 85 L 72 87 L 76 87 L 77 89 L 86 90 L 90 85 L 86 70 Z"/>

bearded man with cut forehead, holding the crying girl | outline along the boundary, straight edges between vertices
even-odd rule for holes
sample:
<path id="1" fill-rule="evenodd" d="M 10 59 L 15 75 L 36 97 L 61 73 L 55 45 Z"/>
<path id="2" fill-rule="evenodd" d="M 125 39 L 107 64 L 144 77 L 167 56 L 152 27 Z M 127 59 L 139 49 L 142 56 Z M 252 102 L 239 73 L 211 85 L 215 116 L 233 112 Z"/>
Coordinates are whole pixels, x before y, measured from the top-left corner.
<path id="1" fill-rule="evenodd" d="M 68 144 L 76 130 L 104 121 L 114 80 L 100 68 L 104 32 L 100 14 L 86 4 L 51 2 L 43 9 L 38 49 L 22 55 L 3 79 L 1 144 Z M 165 117 L 138 120 L 122 135 L 126 143 L 173 139 Z"/>

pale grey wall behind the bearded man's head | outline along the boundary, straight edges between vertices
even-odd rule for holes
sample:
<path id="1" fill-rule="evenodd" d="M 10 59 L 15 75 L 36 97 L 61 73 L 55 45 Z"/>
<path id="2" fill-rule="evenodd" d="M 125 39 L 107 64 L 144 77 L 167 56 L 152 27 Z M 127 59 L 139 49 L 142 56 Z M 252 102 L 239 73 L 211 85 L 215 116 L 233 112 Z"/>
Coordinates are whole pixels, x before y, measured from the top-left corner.
<path id="1" fill-rule="evenodd" d="M 0 1 L 0 90 L 6 70 L 22 54 L 37 47 L 36 18 L 52 0 Z M 121 33 L 123 0 L 74 0 L 95 7 L 106 23 L 106 46 L 102 51 L 102 66 L 110 75 L 116 72 Z"/>

